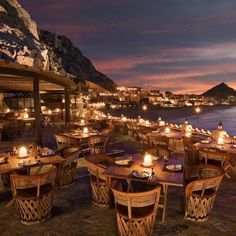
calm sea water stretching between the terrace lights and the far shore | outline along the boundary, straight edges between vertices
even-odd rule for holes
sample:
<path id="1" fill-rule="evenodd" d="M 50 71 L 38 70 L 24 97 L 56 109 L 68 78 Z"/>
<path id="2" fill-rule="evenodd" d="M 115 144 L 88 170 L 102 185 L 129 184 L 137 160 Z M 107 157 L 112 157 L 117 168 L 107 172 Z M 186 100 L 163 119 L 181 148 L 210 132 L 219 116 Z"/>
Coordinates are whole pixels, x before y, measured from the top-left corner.
<path id="1" fill-rule="evenodd" d="M 106 113 L 120 116 L 121 114 L 129 118 L 137 118 L 139 115 L 144 119 L 156 121 L 160 116 L 163 120 L 182 124 L 185 117 L 188 118 L 189 123 L 193 127 L 214 130 L 217 128 L 219 121 L 222 122 L 224 130 L 230 135 L 236 135 L 236 106 L 216 106 L 202 108 L 204 112 L 196 115 L 191 107 L 183 108 L 167 108 L 167 109 L 149 109 L 142 111 L 140 108 L 136 109 L 122 109 L 122 110 L 107 110 Z"/>

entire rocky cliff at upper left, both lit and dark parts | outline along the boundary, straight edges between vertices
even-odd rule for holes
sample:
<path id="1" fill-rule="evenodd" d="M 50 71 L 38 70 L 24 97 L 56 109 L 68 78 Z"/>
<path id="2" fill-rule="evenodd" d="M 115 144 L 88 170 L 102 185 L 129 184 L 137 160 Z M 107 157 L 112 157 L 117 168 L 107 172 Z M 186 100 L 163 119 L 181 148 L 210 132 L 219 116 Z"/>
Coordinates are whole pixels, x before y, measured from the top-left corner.
<path id="1" fill-rule="evenodd" d="M 0 58 L 59 74 L 69 73 L 75 82 L 84 85 L 87 80 L 107 90 L 116 87 L 68 38 L 38 31 L 35 21 L 16 0 L 0 0 Z"/>

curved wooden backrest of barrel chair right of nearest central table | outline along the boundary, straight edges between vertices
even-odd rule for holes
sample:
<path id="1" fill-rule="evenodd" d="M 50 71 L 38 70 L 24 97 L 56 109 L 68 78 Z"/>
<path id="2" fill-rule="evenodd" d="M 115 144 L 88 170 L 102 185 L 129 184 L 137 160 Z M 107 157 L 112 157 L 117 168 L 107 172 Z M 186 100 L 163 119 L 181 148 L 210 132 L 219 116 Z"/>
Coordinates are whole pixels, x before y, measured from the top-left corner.
<path id="1" fill-rule="evenodd" d="M 207 190 L 216 193 L 224 177 L 224 170 L 215 165 L 191 166 L 186 170 L 186 178 L 190 180 L 186 187 L 186 198 L 198 191 L 201 196 Z M 192 180 L 191 180 L 192 179 Z"/>

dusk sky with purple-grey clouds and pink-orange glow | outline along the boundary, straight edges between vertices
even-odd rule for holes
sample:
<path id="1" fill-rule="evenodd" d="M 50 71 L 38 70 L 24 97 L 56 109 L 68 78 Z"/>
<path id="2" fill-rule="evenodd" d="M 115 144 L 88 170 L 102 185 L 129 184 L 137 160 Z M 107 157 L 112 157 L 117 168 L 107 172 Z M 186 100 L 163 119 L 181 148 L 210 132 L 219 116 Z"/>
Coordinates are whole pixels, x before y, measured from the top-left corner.
<path id="1" fill-rule="evenodd" d="M 118 85 L 236 89 L 236 0 L 19 0 Z"/>

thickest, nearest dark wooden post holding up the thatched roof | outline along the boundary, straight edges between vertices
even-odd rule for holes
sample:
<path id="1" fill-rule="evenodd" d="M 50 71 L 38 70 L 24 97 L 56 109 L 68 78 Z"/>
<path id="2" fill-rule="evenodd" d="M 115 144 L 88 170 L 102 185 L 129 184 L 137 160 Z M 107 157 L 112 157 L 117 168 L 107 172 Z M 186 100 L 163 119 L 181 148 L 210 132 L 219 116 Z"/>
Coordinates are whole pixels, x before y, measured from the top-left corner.
<path id="1" fill-rule="evenodd" d="M 41 134 L 41 101 L 39 95 L 39 79 L 34 78 L 33 82 L 33 92 L 34 92 L 34 117 L 35 117 L 35 142 L 37 145 L 42 144 L 42 134 Z"/>

